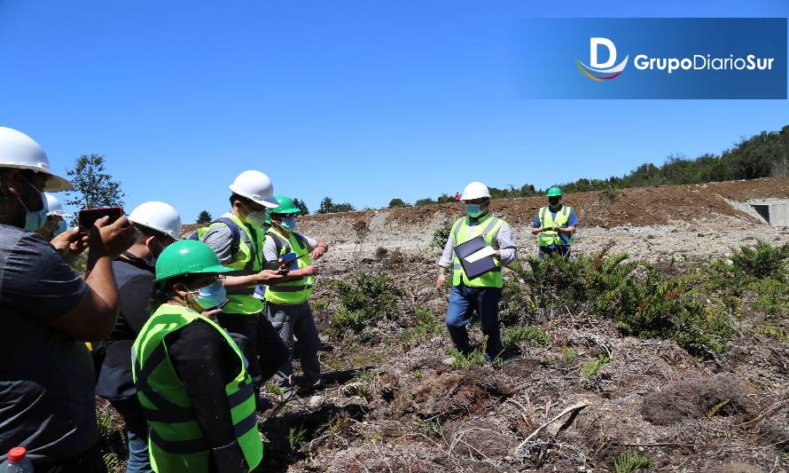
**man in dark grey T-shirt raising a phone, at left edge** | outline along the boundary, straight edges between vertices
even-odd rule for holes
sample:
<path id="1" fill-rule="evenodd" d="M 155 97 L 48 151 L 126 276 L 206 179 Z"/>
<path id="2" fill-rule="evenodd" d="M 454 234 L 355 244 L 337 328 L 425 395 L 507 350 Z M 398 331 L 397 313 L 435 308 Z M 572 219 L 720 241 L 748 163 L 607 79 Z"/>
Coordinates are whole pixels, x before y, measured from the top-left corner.
<path id="1" fill-rule="evenodd" d="M 95 374 L 85 342 L 113 330 L 113 257 L 129 248 L 125 217 L 68 230 L 59 253 L 34 233 L 46 221 L 43 192 L 71 188 L 32 138 L 0 127 L 0 461 L 27 448 L 35 471 L 104 471 L 98 448 Z M 88 246 L 88 276 L 62 254 Z"/>

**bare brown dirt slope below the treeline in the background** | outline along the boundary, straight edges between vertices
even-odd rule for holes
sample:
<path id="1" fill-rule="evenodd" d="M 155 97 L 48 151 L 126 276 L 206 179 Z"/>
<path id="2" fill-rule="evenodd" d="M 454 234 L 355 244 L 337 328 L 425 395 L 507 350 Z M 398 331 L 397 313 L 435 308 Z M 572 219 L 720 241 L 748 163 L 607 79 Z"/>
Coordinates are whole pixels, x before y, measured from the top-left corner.
<path id="1" fill-rule="evenodd" d="M 565 203 L 581 220 L 577 251 L 594 252 L 613 241 L 613 252 L 658 261 L 721 256 L 757 239 L 789 240 L 789 229 L 765 224 L 743 205 L 768 198 L 789 198 L 789 177 L 624 189 L 613 201 L 598 192 L 570 193 Z M 521 254 L 536 249 L 527 225 L 545 204 L 544 197 L 492 204 L 496 216 L 512 225 Z M 434 231 L 460 215 L 461 206 L 449 203 L 302 217 L 299 225 L 303 233 L 332 244 L 334 256 L 354 251 L 370 256 L 379 247 L 424 253 Z M 357 231 L 365 228 L 369 232 Z"/>

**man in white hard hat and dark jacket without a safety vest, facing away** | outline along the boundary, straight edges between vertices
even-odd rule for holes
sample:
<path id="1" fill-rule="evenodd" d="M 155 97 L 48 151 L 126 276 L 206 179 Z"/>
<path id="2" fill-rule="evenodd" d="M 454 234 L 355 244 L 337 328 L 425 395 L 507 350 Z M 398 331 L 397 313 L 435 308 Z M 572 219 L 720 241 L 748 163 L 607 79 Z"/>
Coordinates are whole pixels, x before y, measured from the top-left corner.
<path id="1" fill-rule="evenodd" d="M 181 217 L 165 202 L 150 201 L 129 214 L 137 229 L 134 245 L 113 261 L 121 313 L 113 333 L 94 349 L 102 359 L 96 384 L 98 396 L 110 401 L 126 424 L 128 472 L 152 471 L 148 455 L 148 426 L 131 375 L 129 353 L 151 315 L 154 263 L 160 253 L 181 238 Z"/>

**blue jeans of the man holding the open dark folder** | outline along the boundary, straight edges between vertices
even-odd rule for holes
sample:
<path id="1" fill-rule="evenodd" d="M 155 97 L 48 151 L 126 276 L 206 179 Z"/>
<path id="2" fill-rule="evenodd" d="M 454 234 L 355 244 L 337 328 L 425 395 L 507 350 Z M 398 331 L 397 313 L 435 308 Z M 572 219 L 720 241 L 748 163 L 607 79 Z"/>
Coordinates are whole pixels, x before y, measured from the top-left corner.
<path id="1" fill-rule="evenodd" d="M 464 354 L 471 351 L 465 326 L 471 321 L 472 312 L 476 311 L 480 316 L 482 333 L 488 335 L 485 358 L 489 361 L 501 354 L 501 327 L 498 323 L 498 302 L 501 295 L 501 288 L 469 288 L 463 285 L 454 286 L 449 291 L 447 329 L 458 351 Z"/>

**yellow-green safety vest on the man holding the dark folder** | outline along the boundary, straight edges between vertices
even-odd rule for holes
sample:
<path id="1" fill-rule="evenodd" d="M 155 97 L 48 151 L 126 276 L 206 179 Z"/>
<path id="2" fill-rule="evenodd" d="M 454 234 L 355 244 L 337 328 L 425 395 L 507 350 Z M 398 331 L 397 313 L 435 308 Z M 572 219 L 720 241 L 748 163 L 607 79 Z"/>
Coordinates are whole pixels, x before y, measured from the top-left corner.
<path id="1" fill-rule="evenodd" d="M 469 222 L 469 217 L 460 217 L 457 219 L 457 222 L 455 222 L 455 225 L 452 225 L 452 237 L 455 240 L 456 247 L 461 243 L 465 243 L 468 240 L 482 235 L 486 245 L 496 248 L 496 235 L 502 225 L 504 225 L 504 220 L 488 214 L 480 218 L 473 230 L 469 229 Z M 464 286 L 469 288 L 501 288 L 504 286 L 501 261 L 498 259 L 493 258 L 496 268 L 492 271 L 486 272 L 473 280 L 469 280 L 463 271 L 463 266 L 460 264 L 460 258 L 457 257 L 454 251 L 452 252 L 452 256 L 452 286 L 459 286 L 461 281 Z"/>

